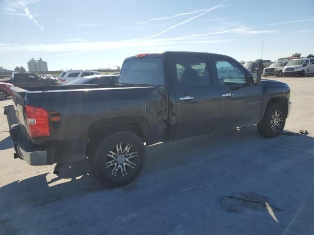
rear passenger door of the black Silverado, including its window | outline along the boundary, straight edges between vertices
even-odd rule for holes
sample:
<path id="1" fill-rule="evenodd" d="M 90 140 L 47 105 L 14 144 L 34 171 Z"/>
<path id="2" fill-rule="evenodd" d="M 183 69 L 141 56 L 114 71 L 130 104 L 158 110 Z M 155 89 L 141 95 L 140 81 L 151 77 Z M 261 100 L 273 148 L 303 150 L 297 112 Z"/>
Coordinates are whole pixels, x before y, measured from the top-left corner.
<path id="1" fill-rule="evenodd" d="M 175 53 L 172 58 L 177 107 L 176 139 L 210 133 L 218 124 L 218 88 L 205 55 Z"/>

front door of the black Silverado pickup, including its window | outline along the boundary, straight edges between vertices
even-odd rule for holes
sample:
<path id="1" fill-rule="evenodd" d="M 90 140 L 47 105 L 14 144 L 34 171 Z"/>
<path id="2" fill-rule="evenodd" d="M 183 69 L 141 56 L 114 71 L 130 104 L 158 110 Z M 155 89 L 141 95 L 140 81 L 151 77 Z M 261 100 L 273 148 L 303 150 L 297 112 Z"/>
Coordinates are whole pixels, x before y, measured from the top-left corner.
<path id="1" fill-rule="evenodd" d="M 214 55 L 213 64 L 219 83 L 219 129 L 259 122 L 262 86 L 252 84 L 249 73 L 230 57 Z"/>

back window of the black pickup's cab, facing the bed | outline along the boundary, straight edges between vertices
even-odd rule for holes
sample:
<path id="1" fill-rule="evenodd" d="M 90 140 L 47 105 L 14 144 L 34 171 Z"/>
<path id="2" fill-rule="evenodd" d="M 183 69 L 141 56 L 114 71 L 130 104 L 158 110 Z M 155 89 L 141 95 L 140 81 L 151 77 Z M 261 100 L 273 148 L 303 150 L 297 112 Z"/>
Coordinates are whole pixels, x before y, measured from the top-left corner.
<path id="1" fill-rule="evenodd" d="M 125 61 L 119 83 L 163 85 L 163 66 L 161 58 L 142 58 Z"/>

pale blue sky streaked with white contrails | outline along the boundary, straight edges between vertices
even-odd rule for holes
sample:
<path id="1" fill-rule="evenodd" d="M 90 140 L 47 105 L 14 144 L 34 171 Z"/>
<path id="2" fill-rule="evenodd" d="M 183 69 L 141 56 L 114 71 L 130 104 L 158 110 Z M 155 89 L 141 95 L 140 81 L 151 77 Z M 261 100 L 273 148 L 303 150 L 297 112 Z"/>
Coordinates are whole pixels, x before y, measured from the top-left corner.
<path id="1" fill-rule="evenodd" d="M 0 0 L 0 66 L 122 65 L 165 50 L 276 60 L 314 54 L 314 0 Z"/>

